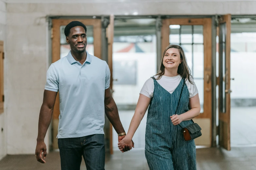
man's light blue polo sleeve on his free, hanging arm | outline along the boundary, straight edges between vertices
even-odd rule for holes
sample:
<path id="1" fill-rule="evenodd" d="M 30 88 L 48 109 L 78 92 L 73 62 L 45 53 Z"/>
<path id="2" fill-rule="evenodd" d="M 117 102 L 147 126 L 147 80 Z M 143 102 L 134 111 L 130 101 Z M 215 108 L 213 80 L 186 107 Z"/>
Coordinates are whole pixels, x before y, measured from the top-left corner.
<path id="1" fill-rule="evenodd" d="M 59 91 L 59 76 L 58 72 L 53 64 L 50 65 L 46 73 L 45 90 L 58 92 Z"/>

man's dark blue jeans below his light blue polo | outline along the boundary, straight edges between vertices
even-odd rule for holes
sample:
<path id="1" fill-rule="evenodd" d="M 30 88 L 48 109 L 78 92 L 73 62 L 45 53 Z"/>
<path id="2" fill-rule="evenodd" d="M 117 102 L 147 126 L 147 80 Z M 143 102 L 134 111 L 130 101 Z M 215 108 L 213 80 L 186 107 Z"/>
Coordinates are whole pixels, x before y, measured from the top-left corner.
<path id="1" fill-rule="evenodd" d="M 87 170 L 105 170 L 104 134 L 58 139 L 61 170 L 80 170 L 82 155 Z"/>

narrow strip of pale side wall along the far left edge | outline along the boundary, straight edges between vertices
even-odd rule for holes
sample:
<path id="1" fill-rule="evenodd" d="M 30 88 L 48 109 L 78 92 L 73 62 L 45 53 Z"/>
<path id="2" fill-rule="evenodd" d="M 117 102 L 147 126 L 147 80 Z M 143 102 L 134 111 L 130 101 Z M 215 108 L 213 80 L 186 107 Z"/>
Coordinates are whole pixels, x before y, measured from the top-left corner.
<path id="1" fill-rule="evenodd" d="M 0 41 L 6 42 L 6 3 L 0 0 Z M 4 48 L 6 45 L 4 44 Z M 6 69 L 5 69 L 6 70 Z M 5 72 L 6 73 L 6 72 Z M 5 81 L 6 84 L 6 81 Z M 6 89 L 6 86 L 4 86 Z M 6 90 L 5 90 L 6 93 Z M 5 105 L 6 106 L 6 103 Z M 4 113 L 0 114 L 0 160 L 6 155 L 6 132 L 7 132 L 7 117 L 6 117 L 6 107 L 4 108 Z M 2 131 L 3 128 L 3 131 Z"/>

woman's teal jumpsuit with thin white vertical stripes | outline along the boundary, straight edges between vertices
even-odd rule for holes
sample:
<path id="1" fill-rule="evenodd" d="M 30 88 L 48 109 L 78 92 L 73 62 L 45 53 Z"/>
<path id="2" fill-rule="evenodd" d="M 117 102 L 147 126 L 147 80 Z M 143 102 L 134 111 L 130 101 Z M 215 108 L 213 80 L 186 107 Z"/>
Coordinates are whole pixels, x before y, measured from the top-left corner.
<path id="1" fill-rule="evenodd" d="M 151 100 L 146 123 L 145 156 L 150 170 L 195 170 L 196 145 L 194 140 L 185 141 L 182 128 L 173 125 L 170 116 L 175 114 L 182 89 L 182 79 L 173 93 L 165 90 L 154 78 L 154 95 Z M 189 110 L 187 85 L 180 98 L 177 114 Z M 182 121 L 185 127 L 192 120 Z"/>

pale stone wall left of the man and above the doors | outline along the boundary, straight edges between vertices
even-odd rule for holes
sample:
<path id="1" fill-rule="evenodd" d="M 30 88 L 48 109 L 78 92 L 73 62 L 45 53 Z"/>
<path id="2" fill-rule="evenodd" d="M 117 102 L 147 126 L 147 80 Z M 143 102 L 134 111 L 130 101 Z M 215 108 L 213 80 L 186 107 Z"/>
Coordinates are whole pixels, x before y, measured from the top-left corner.
<path id="1" fill-rule="evenodd" d="M 46 15 L 256 14 L 256 2 L 253 1 L 101 2 L 7 4 L 5 91 L 8 93 L 5 104 L 8 154 L 35 151 L 39 110 L 48 68 Z M 0 122 L 3 120 L 1 117 L 3 115 L 0 115 Z M 47 135 L 45 142 L 48 145 Z"/>

